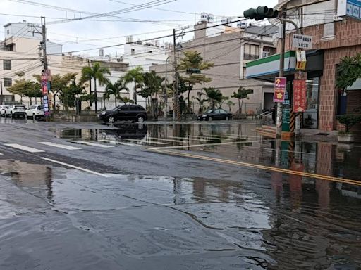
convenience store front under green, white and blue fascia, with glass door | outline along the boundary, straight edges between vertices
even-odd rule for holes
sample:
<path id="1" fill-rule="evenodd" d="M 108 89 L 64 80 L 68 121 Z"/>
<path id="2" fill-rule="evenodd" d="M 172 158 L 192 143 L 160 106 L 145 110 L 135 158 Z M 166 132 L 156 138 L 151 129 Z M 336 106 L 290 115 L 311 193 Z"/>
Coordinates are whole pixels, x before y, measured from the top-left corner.
<path id="1" fill-rule="evenodd" d="M 279 76 L 280 55 L 275 54 L 267 58 L 261 58 L 246 64 L 247 79 L 260 79 L 267 82 L 274 82 Z M 287 78 L 287 91 L 289 101 L 286 105 L 292 104 L 293 80 L 295 77 L 296 53 L 287 51 L 285 53 L 284 74 Z M 320 78 L 324 68 L 323 51 L 307 51 L 307 106 L 305 113 L 302 113 L 302 128 L 318 129 L 319 127 L 319 89 Z M 287 104 L 289 103 L 289 104 Z"/>

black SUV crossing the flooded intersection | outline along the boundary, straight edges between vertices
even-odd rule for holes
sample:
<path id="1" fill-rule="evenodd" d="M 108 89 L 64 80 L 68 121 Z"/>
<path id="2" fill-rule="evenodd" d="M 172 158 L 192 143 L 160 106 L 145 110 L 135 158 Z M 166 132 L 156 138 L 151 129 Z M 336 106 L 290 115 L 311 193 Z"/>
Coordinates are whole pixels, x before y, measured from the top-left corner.
<path id="1" fill-rule="evenodd" d="M 145 122 L 147 111 L 140 105 L 121 105 L 113 110 L 105 110 L 98 115 L 99 119 L 106 123 L 113 124 L 117 120 Z"/>

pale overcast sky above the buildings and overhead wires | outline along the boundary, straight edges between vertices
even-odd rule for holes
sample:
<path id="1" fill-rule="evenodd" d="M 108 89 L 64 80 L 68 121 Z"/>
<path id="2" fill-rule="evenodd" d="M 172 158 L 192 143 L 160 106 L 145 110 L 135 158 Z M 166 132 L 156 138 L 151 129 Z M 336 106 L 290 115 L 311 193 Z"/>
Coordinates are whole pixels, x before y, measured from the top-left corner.
<path id="1" fill-rule="evenodd" d="M 39 23 L 40 19 L 28 18 L 23 15 L 45 16 L 47 17 L 48 39 L 64 44 L 63 51 L 77 51 L 122 44 L 125 42 L 125 36 L 130 34 L 133 35 L 134 41 L 172 34 L 173 28 L 179 29 L 197 23 L 202 12 L 214 14 L 214 22 L 220 23 L 222 16 L 232 17 L 233 20 L 236 20 L 237 16 L 243 15 L 243 11 L 247 8 L 260 5 L 274 6 L 276 3 L 277 0 L 0 0 L 0 22 L 1 25 L 21 20 Z M 51 5 L 53 8 L 35 6 L 35 4 Z M 121 11 L 126 8 L 135 8 L 135 5 L 140 4 L 158 6 L 142 8 L 139 11 Z M 78 11 L 82 11 L 82 13 Z M 113 11 L 119 12 L 109 16 L 94 17 L 95 13 Z M 65 18 L 87 16 L 92 16 L 92 18 L 54 23 Z M 1 39 L 4 39 L 4 29 L 1 29 L 0 34 L 2 35 Z M 105 49 L 105 53 L 115 53 L 116 51 L 122 53 L 121 47 Z M 82 53 L 95 55 L 97 50 Z"/>

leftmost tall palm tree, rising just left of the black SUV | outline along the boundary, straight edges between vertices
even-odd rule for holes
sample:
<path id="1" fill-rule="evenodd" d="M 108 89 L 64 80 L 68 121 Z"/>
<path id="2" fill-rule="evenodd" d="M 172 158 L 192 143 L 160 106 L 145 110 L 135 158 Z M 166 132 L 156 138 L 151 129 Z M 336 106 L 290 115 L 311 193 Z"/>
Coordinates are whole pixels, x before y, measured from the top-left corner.
<path id="1" fill-rule="evenodd" d="M 109 82 L 109 79 L 104 77 L 104 75 L 110 75 L 109 68 L 104 68 L 100 65 L 100 63 L 95 62 L 92 67 L 84 67 L 82 68 L 82 82 L 91 81 L 94 79 L 94 95 L 97 100 L 97 80 L 100 83 L 106 84 Z M 91 86 L 90 93 L 92 92 Z M 95 101 L 95 113 L 97 113 L 97 101 Z"/>

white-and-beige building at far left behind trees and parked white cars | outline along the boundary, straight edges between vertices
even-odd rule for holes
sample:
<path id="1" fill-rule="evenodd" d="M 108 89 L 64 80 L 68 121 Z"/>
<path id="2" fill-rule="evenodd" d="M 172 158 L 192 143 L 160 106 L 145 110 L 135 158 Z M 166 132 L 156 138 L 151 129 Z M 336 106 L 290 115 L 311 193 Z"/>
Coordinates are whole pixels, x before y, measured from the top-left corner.
<path id="1" fill-rule="evenodd" d="M 26 23 L 25 21 L 4 25 L 4 32 L 4 41 L 0 42 L 0 95 L 4 103 L 13 103 L 20 101 L 20 96 L 9 93 L 7 88 L 16 79 L 20 79 L 19 72 L 23 73 L 21 78 L 35 80 L 33 75 L 39 75 L 43 70 L 42 51 L 40 50 L 42 34 L 39 25 Z M 53 75 L 76 72 L 78 73 L 77 78 L 80 79 L 83 67 L 91 66 L 95 61 L 99 61 L 102 62 L 103 66 L 111 70 L 111 75 L 106 75 L 106 77 L 111 82 L 116 82 L 128 68 L 126 63 L 109 62 L 107 58 L 82 58 L 71 56 L 71 54 L 65 56 L 62 53 L 62 45 L 49 40 L 47 41 L 47 54 L 48 66 Z M 92 89 L 94 89 L 93 84 L 94 81 L 91 82 Z M 98 82 L 97 89 L 99 93 L 97 96 L 102 97 L 105 86 L 99 85 Z M 55 98 L 58 101 L 59 97 L 56 96 Z M 114 97 L 110 99 L 113 100 L 114 104 Z M 23 103 L 29 105 L 30 102 L 27 98 L 23 98 Z M 102 104 L 104 105 L 104 102 L 99 102 L 98 108 L 101 108 Z"/>

